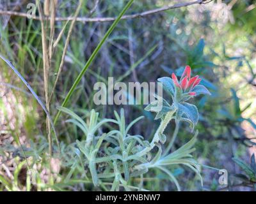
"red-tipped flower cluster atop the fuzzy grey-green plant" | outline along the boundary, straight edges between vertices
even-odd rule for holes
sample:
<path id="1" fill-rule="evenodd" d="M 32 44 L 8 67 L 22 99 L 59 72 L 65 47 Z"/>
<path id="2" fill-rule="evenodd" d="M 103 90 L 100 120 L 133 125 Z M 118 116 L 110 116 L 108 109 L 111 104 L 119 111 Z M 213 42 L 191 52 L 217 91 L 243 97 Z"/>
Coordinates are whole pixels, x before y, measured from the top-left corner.
<path id="1" fill-rule="evenodd" d="M 172 80 L 173 84 L 180 89 L 182 89 L 183 92 L 188 92 L 190 96 L 195 96 L 196 92 L 193 91 L 193 88 L 196 87 L 196 85 L 200 84 L 201 79 L 196 75 L 195 77 L 191 78 L 191 68 L 190 66 L 186 66 L 184 69 L 184 72 L 182 73 L 180 77 L 180 82 L 178 81 L 176 75 L 172 73 Z"/>

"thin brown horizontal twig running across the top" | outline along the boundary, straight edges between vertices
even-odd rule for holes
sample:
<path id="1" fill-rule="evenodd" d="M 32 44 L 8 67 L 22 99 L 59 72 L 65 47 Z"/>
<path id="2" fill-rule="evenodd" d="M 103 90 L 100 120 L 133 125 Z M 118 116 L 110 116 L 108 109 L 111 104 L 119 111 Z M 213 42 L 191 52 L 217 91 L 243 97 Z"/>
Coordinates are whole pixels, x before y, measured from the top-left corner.
<path id="1" fill-rule="evenodd" d="M 209 1 L 210 2 L 210 1 Z M 179 3 L 175 4 L 173 6 L 163 6 L 161 8 L 156 8 L 154 10 L 149 10 L 149 11 L 144 11 L 142 13 L 135 13 L 132 15 L 124 15 L 121 19 L 132 19 L 132 18 L 140 18 L 140 17 L 147 17 L 148 15 L 153 15 L 156 13 L 160 13 L 162 11 L 167 11 L 167 10 L 172 10 L 175 8 L 181 8 L 185 6 L 191 6 L 193 4 L 206 4 L 209 2 L 205 2 L 204 0 L 197 0 L 189 3 Z M 15 11 L 1 11 L 0 10 L 0 15 L 13 15 L 13 16 L 19 16 L 19 17 L 28 17 L 27 13 L 21 13 L 21 12 L 15 12 Z M 31 17 L 34 20 L 40 20 L 40 17 L 34 16 Z M 67 21 L 67 20 L 74 20 L 75 17 L 56 17 L 56 21 Z M 49 17 L 44 17 L 44 20 L 50 20 Z M 116 17 L 104 17 L 104 18 L 88 18 L 88 17 L 77 17 L 76 21 L 77 22 L 112 22 L 116 20 Z"/>

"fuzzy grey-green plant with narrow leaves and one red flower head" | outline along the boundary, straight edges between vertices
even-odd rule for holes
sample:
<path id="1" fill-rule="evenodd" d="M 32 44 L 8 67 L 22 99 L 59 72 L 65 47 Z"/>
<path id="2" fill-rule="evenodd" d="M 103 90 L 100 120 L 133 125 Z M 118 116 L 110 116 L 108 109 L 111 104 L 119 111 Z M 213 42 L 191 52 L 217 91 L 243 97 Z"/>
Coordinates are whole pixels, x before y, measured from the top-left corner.
<path id="1" fill-rule="evenodd" d="M 198 122 L 196 106 L 187 101 L 199 94 L 210 94 L 210 92 L 203 85 L 200 85 L 198 76 L 191 78 L 191 68 L 189 66 L 186 66 L 180 80 L 173 73 L 172 78 L 162 77 L 158 81 L 163 83 L 163 88 L 170 96 L 171 100 L 169 101 L 172 103 L 168 103 L 167 99 L 161 98 L 163 106 L 161 109 L 159 109 L 159 106 L 156 108 L 156 102 L 160 99 L 159 96 L 156 96 L 156 101 L 145 108 L 147 111 L 156 112 L 156 119 L 161 119 L 151 142 L 145 140 L 141 135 L 130 135 L 131 127 L 143 117 L 138 117 L 130 124 L 126 124 L 123 109 L 120 115 L 115 112 L 115 119 L 100 121 L 98 120 L 99 113 L 92 110 L 90 119 L 86 123 L 76 113 L 67 108 L 59 108 L 59 110 L 68 113 L 72 117 L 67 122 L 72 122 L 84 133 L 85 139 L 77 140 L 75 145 L 72 144 L 72 149 L 74 155 L 79 158 L 77 163 L 81 163 L 83 169 L 88 168 L 90 170 L 90 177 L 94 186 L 104 184 L 104 180 L 109 181 L 110 179 L 112 191 L 120 190 L 120 186 L 124 187 L 126 191 L 138 189 L 138 187 L 132 186 L 132 178 L 140 177 L 143 179 L 143 175 L 150 169 L 157 168 L 166 173 L 180 191 L 179 182 L 170 170 L 172 165 L 177 164 L 188 166 L 200 176 L 200 165 L 191 155 L 195 151 L 197 131 L 188 143 L 173 152 L 171 150 L 179 132 L 180 122 L 189 122 L 192 130 Z M 175 120 L 176 128 L 172 140 L 163 149 L 163 145 L 166 143 L 164 130 L 171 120 Z M 112 128 L 107 133 L 99 131 L 101 126 L 109 123 L 118 128 Z M 157 153 L 152 156 L 152 150 L 155 147 Z M 84 178 L 88 178 L 88 173 L 84 172 L 84 174 Z M 202 180 L 201 176 L 200 178 Z"/>

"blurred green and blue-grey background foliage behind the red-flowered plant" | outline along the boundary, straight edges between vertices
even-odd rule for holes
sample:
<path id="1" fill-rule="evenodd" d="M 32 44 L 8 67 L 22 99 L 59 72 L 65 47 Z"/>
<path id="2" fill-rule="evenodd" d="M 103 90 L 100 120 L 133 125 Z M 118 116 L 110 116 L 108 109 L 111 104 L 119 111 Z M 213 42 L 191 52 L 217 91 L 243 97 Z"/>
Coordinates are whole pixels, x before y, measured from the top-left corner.
<path id="1" fill-rule="evenodd" d="M 26 12 L 28 1 L 4 1 L 1 10 Z M 96 1 L 86 1 L 79 16 L 89 16 Z M 127 1 L 99 1 L 91 17 L 115 17 Z M 186 1 L 184 1 L 186 2 Z M 188 1 L 187 1 L 188 2 Z M 135 1 L 128 13 L 160 8 L 179 1 L 143 0 Z M 207 4 L 195 4 L 175 10 L 168 10 L 143 18 L 122 20 L 109 36 L 100 54 L 86 72 L 82 82 L 73 95 L 68 108 L 86 118 L 92 108 L 100 112 L 100 117 L 113 118 L 113 110 L 121 106 L 95 106 L 93 103 L 93 84 L 106 82 L 108 77 L 122 82 L 156 82 L 157 78 L 175 72 L 178 76 L 184 66 L 191 66 L 193 75 L 202 76 L 202 84 L 211 91 L 212 96 L 196 99 L 200 121 L 196 143 L 196 157 L 204 164 L 202 176 L 204 187 L 195 173 L 186 168 L 173 170 L 175 177 L 182 180 L 187 191 L 214 191 L 223 187 L 218 184 L 218 171 L 207 168 L 212 166 L 226 169 L 232 176 L 227 186 L 234 190 L 252 190 L 255 180 L 250 179 L 244 165 L 253 165 L 251 159 L 256 143 L 256 1 L 227 0 L 211 1 Z M 60 0 L 57 16 L 72 15 L 77 1 Z M 20 73 L 29 82 L 39 96 L 44 96 L 42 75 L 42 45 L 40 22 L 22 17 L 0 16 L 0 53 L 15 64 Z M 70 39 L 63 72 L 52 101 L 51 114 L 56 114 L 72 82 L 83 68 L 86 60 L 106 33 L 109 22 L 77 22 Z M 65 22 L 56 22 L 56 31 L 60 33 Z M 67 30 L 67 29 L 66 29 Z M 54 54 L 51 67 L 50 87 L 52 87 L 61 61 L 67 31 L 63 34 Z M 39 143 L 45 136 L 44 113 L 35 99 L 21 85 L 19 79 L 0 61 L 0 145 L 8 140 L 20 143 Z M 42 97 L 43 99 L 43 97 Z M 44 99 L 43 99 L 44 100 Z M 145 115 L 132 129 L 132 133 L 150 138 L 157 128 L 154 115 L 145 112 L 143 105 L 124 106 L 127 121 Z M 81 132 L 72 124 L 65 123 L 67 115 L 61 115 L 56 129 L 61 142 L 68 144 L 81 138 Z M 170 140 L 174 124 L 168 127 L 166 135 Z M 191 138 L 189 129 L 184 126 L 176 141 L 184 143 Z M 42 147 L 41 149 L 44 149 Z M 239 157 L 244 163 L 234 158 Z M 3 159 L 2 159 L 3 161 Z M 12 171 L 19 165 L 11 160 L 6 167 L 0 167 L 0 176 L 12 178 Z M 239 166 L 242 168 L 239 168 Z M 6 170 L 9 168 L 9 170 Z M 40 168 L 40 167 L 38 167 Z M 21 170 L 21 168 L 20 168 Z M 252 170 L 253 171 L 253 170 Z M 61 170 L 65 175 L 65 168 Z M 145 187 L 155 191 L 174 190 L 175 186 L 165 176 L 156 173 L 157 179 L 146 180 Z M 47 173 L 45 173 L 47 174 Z M 61 177 L 58 175 L 58 177 Z M 79 177 L 79 175 L 77 175 Z M 148 175 L 150 178 L 150 175 Z M 241 178 L 243 178 L 241 180 Z M 245 179 L 247 178 L 247 180 Z M 62 178 L 63 179 L 63 178 Z M 66 178 L 67 179 L 67 178 Z M 3 180 L 0 183 L 3 183 Z M 16 180 L 22 186 L 22 179 Z M 1 184 L 0 184 L 1 186 Z M 84 188 L 74 184 L 77 190 Z M 233 186 L 233 187 L 232 187 Z M 226 187 L 226 186 L 225 186 Z M 22 187 L 21 187 L 22 189 Z"/>

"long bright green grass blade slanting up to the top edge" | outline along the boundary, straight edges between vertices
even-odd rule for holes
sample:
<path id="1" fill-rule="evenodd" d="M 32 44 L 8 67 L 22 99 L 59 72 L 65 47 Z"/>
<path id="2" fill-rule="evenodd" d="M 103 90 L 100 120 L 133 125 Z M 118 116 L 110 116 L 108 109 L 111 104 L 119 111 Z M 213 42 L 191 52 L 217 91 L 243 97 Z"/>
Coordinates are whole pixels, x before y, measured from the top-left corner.
<path id="1" fill-rule="evenodd" d="M 132 5 L 134 0 L 130 0 L 126 6 L 124 7 L 124 9 L 121 11 L 121 13 L 118 15 L 118 17 L 116 18 L 116 20 L 113 22 L 113 24 L 109 27 L 107 33 L 104 35 L 104 37 L 102 38 L 102 40 L 100 41 L 99 45 L 97 45 L 97 47 L 95 48 L 95 50 L 93 51 L 93 54 L 90 56 L 90 58 L 88 59 L 88 61 L 86 62 L 84 68 L 82 69 L 82 71 L 79 73 L 79 75 L 77 76 L 74 84 L 72 85 L 72 87 L 70 88 L 70 91 L 68 91 L 68 94 L 66 96 L 66 98 L 64 99 L 63 103 L 62 103 L 62 107 L 65 107 L 68 103 L 68 100 L 70 99 L 71 95 L 73 94 L 73 92 L 75 91 L 77 85 L 79 84 L 79 82 L 81 81 L 85 71 L 88 69 L 88 67 L 90 66 L 90 64 L 92 64 L 93 60 L 95 59 L 96 55 L 98 54 L 100 48 L 102 47 L 102 45 L 104 44 L 104 42 L 107 40 L 109 34 L 112 33 L 113 29 L 115 29 L 116 25 L 118 24 L 118 22 L 121 20 L 122 16 L 124 15 L 125 11 L 127 11 L 130 6 Z M 56 124 L 58 118 L 60 117 L 60 113 L 61 111 L 59 110 L 55 119 L 54 119 L 54 124 Z"/>

